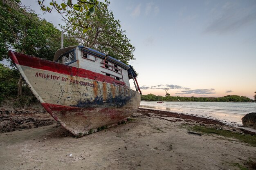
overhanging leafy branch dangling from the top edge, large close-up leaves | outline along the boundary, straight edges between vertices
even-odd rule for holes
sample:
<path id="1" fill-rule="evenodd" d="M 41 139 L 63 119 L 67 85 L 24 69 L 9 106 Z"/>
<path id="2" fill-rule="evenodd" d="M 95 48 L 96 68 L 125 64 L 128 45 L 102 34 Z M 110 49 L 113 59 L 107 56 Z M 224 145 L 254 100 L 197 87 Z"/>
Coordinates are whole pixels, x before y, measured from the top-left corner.
<path id="1" fill-rule="evenodd" d="M 45 6 L 45 0 L 37 0 L 42 11 L 51 13 L 53 9 L 58 11 L 63 19 L 73 26 L 79 26 L 83 31 L 88 31 L 90 20 L 95 10 L 100 8 L 98 0 L 77 0 L 77 4 L 72 4 L 72 0 L 55 0 L 49 3 L 49 6 Z M 105 0 L 106 2 L 106 0 Z M 84 18 L 80 18 L 80 13 L 84 14 Z M 74 17 L 67 17 L 68 14 L 73 13 Z"/>

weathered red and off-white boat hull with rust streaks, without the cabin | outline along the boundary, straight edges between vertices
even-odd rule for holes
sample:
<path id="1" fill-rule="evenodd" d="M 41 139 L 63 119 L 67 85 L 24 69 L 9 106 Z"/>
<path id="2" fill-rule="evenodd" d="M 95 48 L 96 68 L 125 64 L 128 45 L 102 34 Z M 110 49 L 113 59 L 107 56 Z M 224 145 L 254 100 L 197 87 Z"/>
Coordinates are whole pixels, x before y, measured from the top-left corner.
<path id="1" fill-rule="evenodd" d="M 139 108 L 140 94 L 112 77 L 13 51 L 9 57 L 47 112 L 75 136 L 115 125 Z"/>

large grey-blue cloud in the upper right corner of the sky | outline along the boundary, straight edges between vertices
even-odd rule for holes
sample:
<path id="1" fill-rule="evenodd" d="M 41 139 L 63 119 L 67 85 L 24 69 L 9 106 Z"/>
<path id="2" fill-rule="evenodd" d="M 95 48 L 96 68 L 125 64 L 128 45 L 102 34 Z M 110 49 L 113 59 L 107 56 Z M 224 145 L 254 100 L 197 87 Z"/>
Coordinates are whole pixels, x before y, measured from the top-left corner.
<path id="1" fill-rule="evenodd" d="M 228 2 L 222 6 L 222 10 L 223 11 L 212 10 L 212 15 L 217 15 L 217 12 L 221 14 L 207 26 L 204 33 L 227 33 L 256 22 L 255 7 L 241 9 L 238 5 Z"/>

